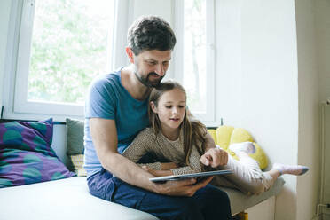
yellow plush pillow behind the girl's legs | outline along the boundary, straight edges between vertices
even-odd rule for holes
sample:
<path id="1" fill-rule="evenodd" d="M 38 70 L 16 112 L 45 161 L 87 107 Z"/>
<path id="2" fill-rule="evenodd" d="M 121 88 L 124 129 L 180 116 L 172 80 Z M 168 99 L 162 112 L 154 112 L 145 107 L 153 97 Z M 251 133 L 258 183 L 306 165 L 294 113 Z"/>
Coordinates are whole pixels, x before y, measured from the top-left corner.
<path id="1" fill-rule="evenodd" d="M 250 156 L 258 161 L 260 169 L 265 169 L 268 166 L 267 156 L 263 152 L 260 145 L 255 143 L 255 140 L 248 133 L 247 130 L 241 128 L 234 128 L 232 126 L 220 126 L 216 130 L 208 130 L 209 134 L 215 140 L 216 145 L 220 145 L 225 151 L 230 153 L 233 158 L 239 160 L 238 157 L 233 153 L 228 146 L 234 143 L 240 142 L 252 142 L 255 145 L 255 153 L 250 154 Z"/>

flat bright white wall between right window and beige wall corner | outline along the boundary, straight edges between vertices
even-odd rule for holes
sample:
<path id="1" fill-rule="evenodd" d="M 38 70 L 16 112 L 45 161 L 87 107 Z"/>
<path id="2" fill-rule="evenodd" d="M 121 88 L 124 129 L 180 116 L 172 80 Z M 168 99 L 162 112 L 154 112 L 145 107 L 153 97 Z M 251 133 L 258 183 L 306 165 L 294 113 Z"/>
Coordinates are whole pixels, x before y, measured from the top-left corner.
<path id="1" fill-rule="evenodd" d="M 271 163 L 297 164 L 295 1 L 216 1 L 216 28 L 217 117 L 249 130 Z M 296 219 L 297 178 L 284 178 L 275 217 Z"/>

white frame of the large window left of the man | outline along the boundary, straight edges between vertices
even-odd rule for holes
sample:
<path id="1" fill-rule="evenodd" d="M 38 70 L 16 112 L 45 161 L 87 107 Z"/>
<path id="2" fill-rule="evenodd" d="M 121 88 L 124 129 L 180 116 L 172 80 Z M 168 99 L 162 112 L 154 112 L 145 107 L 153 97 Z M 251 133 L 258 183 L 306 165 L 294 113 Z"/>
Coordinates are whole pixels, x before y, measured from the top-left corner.
<path id="1" fill-rule="evenodd" d="M 114 11 L 117 11 L 117 8 L 123 10 L 124 7 L 122 7 L 122 4 L 119 4 L 120 2 L 114 0 Z M 10 94 L 9 98 L 4 100 L 4 117 L 40 119 L 42 115 L 43 117 L 51 116 L 57 118 L 59 121 L 64 121 L 68 116 L 83 118 L 84 106 L 82 105 L 27 100 L 30 52 L 35 20 L 35 0 L 13 1 L 11 16 L 15 16 L 15 18 L 12 17 L 11 24 L 13 24 L 12 27 L 15 27 L 16 30 L 13 33 L 15 37 L 12 42 L 8 42 L 13 45 L 13 48 L 11 50 L 8 49 L 7 54 L 13 53 L 12 58 L 8 58 L 9 63 L 12 64 L 12 67 L 8 69 L 11 69 L 9 72 L 14 73 L 14 75 L 11 75 L 8 80 L 10 85 L 4 88 L 4 94 Z M 120 13 L 115 13 L 115 16 L 120 16 Z M 118 18 L 114 18 L 114 24 L 115 20 L 118 20 Z M 111 45 L 114 44 L 113 37 Z M 16 50 L 15 47 L 17 47 Z M 110 67 L 114 65 L 113 59 L 114 51 L 110 54 Z"/>

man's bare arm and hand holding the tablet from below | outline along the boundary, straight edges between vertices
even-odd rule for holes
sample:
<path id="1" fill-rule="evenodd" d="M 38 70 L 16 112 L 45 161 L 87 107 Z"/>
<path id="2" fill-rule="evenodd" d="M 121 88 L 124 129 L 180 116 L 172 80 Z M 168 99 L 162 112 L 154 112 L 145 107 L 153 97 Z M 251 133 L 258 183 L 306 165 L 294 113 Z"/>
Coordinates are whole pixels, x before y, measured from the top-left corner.
<path id="1" fill-rule="evenodd" d="M 154 193 L 193 196 L 198 189 L 207 185 L 212 179 L 210 177 L 198 183 L 195 179 L 187 179 L 155 184 L 149 181 L 150 177 L 154 177 L 152 174 L 118 153 L 114 120 L 91 118 L 90 133 L 102 167 L 130 185 L 137 185 Z"/>

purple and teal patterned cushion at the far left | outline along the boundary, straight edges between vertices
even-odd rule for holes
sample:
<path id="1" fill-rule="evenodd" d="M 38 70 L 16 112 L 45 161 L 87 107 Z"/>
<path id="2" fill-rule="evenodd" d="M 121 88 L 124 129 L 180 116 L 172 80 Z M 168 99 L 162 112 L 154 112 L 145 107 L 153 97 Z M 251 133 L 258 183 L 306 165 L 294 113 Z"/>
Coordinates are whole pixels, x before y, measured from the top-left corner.
<path id="1" fill-rule="evenodd" d="M 51 148 L 52 119 L 0 123 L 0 187 L 73 177 Z"/>

